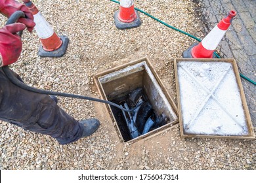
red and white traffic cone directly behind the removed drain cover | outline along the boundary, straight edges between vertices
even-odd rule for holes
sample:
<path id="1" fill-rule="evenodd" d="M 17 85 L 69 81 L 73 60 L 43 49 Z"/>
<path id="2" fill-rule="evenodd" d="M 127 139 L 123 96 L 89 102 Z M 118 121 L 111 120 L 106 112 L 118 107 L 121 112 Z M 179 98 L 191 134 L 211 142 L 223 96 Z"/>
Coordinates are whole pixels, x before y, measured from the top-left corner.
<path id="1" fill-rule="evenodd" d="M 230 10 L 228 15 L 215 25 L 215 27 L 198 44 L 193 44 L 182 54 L 183 58 L 216 58 L 213 52 L 217 48 L 221 39 L 223 39 L 226 30 L 231 25 L 232 19 L 236 16 L 234 10 Z"/>

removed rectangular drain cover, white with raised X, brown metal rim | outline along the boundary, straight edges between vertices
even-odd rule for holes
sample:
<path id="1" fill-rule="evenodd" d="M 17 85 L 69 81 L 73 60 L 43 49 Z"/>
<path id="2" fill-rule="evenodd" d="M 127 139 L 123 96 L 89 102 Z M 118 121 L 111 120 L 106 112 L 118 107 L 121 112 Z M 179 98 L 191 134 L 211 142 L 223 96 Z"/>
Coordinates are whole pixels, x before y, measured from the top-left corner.
<path id="1" fill-rule="evenodd" d="M 235 59 L 174 60 L 181 137 L 255 139 Z"/>

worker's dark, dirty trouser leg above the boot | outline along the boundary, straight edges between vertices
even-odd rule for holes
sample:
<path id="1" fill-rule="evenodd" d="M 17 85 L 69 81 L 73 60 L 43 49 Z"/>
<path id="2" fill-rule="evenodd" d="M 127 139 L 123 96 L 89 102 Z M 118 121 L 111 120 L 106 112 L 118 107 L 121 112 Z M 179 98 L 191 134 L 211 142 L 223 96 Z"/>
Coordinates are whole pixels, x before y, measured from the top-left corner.
<path id="1" fill-rule="evenodd" d="M 20 76 L 14 72 L 13 74 L 21 80 Z M 82 125 L 58 107 L 49 95 L 29 92 L 15 86 L 1 67 L 0 120 L 50 135 L 60 144 L 77 141 L 83 133 Z"/>

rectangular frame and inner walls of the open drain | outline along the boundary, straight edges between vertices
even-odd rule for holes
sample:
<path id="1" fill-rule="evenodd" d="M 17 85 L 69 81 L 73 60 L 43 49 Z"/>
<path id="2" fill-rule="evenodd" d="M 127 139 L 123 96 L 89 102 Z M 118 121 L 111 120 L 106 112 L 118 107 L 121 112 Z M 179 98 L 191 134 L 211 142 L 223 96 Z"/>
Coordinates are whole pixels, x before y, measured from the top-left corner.
<path id="1" fill-rule="evenodd" d="M 150 139 L 159 135 L 172 127 L 179 125 L 177 115 L 177 105 L 171 98 L 165 86 L 160 80 L 160 77 L 154 70 L 149 59 L 139 58 L 129 63 L 124 63 L 94 76 L 96 87 L 100 97 L 104 100 L 111 101 L 119 95 L 126 95 L 138 87 L 144 88 L 154 111 L 157 114 L 167 114 L 169 122 L 157 129 L 149 131 L 144 135 L 140 135 L 135 139 L 125 141 L 121 130 L 119 129 L 117 119 L 114 116 L 110 105 L 106 105 L 108 114 L 114 124 L 119 140 L 123 143 L 133 143 L 140 140 Z"/>

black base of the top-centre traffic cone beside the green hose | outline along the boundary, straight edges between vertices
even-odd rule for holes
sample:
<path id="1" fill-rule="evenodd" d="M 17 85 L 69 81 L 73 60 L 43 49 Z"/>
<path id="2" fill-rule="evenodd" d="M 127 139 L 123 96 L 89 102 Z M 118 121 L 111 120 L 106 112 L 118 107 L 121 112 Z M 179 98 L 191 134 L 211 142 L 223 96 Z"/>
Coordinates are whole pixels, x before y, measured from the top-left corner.
<path id="1" fill-rule="evenodd" d="M 117 10 L 114 14 L 114 20 L 117 29 L 131 29 L 135 27 L 139 27 L 141 25 L 140 16 L 137 10 L 135 10 L 135 19 L 132 22 L 121 22 L 119 20 L 119 10 Z"/>

